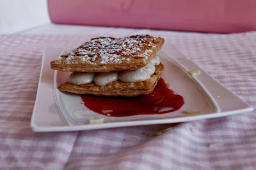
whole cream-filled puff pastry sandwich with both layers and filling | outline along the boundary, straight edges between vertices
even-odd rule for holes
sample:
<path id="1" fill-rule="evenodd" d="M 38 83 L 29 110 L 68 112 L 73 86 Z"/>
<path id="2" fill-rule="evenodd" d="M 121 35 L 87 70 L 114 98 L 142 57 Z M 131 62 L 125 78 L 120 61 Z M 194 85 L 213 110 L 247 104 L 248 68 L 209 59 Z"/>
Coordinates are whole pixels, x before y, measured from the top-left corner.
<path id="1" fill-rule="evenodd" d="M 164 39 L 150 35 L 92 38 L 51 68 L 73 72 L 58 89 L 76 94 L 134 97 L 151 93 L 164 70 L 156 53 Z"/>

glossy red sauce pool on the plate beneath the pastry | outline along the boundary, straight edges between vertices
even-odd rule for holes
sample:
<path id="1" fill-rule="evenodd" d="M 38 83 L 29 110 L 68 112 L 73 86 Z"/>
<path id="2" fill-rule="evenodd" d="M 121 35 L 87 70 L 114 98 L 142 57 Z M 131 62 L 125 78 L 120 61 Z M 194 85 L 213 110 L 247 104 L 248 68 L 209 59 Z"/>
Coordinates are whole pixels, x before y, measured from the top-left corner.
<path id="1" fill-rule="evenodd" d="M 183 97 L 166 88 L 160 79 L 156 88 L 148 95 L 138 97 L 97 97 L 81 95 L 84 105 L 99 114 L 123 117 L 138 114 L 163 114 L 180 109 L 184 104 Z M 111 112 L 104 113 L 106 110 Z M 103 111 L 103 112 L 102 112 Z"/>

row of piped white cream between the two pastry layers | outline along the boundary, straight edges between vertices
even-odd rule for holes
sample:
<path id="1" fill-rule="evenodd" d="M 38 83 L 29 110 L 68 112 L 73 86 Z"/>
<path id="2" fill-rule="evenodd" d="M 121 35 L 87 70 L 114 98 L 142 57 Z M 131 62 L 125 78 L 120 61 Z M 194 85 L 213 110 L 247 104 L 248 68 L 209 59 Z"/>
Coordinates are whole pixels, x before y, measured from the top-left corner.
<path id="1" fill-rule="evenodd" d="M 156 65 L 159 64 L 159 57 L 154 56 L 146 66 L 136 70 L 105 73 L 73 72 L 68 75 L 67 82 L 76 85 L 94 82 L 97 86 L 105 86 L 109 82 L 117 81 L 118 79 L 124 82 L 146 81 L 150 79 L 150 76 L 156 71 Z"/>

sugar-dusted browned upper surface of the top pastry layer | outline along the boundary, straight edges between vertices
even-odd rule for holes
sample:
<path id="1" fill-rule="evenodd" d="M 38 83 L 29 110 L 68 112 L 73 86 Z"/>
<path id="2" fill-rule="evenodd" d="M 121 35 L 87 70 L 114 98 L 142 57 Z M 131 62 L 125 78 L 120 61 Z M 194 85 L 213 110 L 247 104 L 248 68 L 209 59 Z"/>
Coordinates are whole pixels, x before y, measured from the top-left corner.
<path id="1" fill-rule="evenodd" d="M 131 58 L 143 58 L 146 60 L 153 52 L 150 48 L 156 47 L 156 43 L 154 43 L 156 38 L 149 35 L 93 38 L 67 54 L 65 61 L 68 64 L 74 64 L 79 59 L 79 62 L 82 63 L 100 63 L 104 65 L 107 63 L 130 61 Z"/>

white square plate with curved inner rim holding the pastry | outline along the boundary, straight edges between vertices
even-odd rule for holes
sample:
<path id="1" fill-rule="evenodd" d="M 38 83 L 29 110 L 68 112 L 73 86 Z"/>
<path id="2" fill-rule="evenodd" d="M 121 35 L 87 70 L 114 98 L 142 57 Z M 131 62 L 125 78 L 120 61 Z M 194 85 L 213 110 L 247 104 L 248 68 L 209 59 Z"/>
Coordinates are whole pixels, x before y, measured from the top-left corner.
<path id="1" fill-rule="evenodd" d="M 219 82 L 214 80 L 173 45 L 164 46 L 157 54 L 161 56 L 164 72 L 161 77 L 172 84 L 171 89 L 184 98 L 185 104 L 166 114 L 108 117 L 91 111 L 83 105 L 80 95 L 63 93 L 57 89 L 65 82 L 70 72 L 59 72 L 50 68 L 50 62 L 68 50 L 45 49 L 35 107 L 31 118 L 34 132 L 56 132 L 90 130 L 99 128 L 129 127 L 161 123 L 177 123 L 206 118 L 217 118 L 253 111 Z M 171 58 L 172 56 L 172 58 Z M 198 76 L 189 75 L 190 70 L 200 70 Z M 198 114 L 184 114 L 182 111 L 199 110 Z M 104 123 L 90 124 L 90 120 L 104 118 Z"/>

